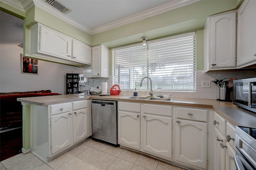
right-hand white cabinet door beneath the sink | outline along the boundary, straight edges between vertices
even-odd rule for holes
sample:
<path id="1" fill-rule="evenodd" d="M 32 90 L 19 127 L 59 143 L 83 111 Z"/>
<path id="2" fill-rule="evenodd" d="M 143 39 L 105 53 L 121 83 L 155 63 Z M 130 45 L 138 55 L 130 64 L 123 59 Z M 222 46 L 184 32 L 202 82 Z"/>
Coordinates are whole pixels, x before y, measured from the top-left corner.
<path id="1" fill-rule="evenodd" d="M 141 134 L 142 150 L 172 158 L 172 118 L 144 114 Z"/>

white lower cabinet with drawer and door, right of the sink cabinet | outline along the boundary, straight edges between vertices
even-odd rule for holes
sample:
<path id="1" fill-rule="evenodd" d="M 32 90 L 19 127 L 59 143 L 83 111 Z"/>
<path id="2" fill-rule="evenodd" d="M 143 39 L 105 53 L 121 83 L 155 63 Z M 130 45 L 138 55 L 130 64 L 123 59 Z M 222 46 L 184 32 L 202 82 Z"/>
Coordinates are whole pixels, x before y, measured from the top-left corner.
<path id="1" fill-rule="evenodd" d="M 174 122 L 175 161 L 206 169 L 207 110 L 178 107 L 176 117 Z"/>

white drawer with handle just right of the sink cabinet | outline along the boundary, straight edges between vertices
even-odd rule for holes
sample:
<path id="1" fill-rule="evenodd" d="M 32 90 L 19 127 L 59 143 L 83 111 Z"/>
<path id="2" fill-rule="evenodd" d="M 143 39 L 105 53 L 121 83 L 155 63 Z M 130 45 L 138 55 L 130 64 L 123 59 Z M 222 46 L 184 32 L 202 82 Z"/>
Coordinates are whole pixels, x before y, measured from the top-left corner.
<path id="1" fill-rule="evenodd" d="M 177 108 L 177 118 L 207 122 L 207 110 Z"/>

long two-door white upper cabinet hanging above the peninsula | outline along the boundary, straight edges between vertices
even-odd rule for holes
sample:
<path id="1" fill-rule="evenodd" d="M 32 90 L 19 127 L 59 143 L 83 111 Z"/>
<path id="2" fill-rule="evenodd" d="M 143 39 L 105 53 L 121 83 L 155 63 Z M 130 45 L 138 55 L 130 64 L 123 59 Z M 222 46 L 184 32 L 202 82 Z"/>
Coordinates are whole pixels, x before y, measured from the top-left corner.
<path id="1" fill-rule="evenodd" d="M 56 30 L 35 24 L 30 28 L 30 54 L 38 59 L 84 66 L 91 64 L 92 48 Z"/>

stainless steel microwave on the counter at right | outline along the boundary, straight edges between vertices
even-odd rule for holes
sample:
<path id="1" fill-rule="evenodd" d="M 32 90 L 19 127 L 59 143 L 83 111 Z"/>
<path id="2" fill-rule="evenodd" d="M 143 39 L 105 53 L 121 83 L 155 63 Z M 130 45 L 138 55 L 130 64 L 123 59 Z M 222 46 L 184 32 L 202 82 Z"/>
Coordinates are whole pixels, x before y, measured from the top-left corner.
<path id="1" fill-rule="evenodd" d="M 233 80 L 233 104 L 256 113 L 256 77 Z"/>

